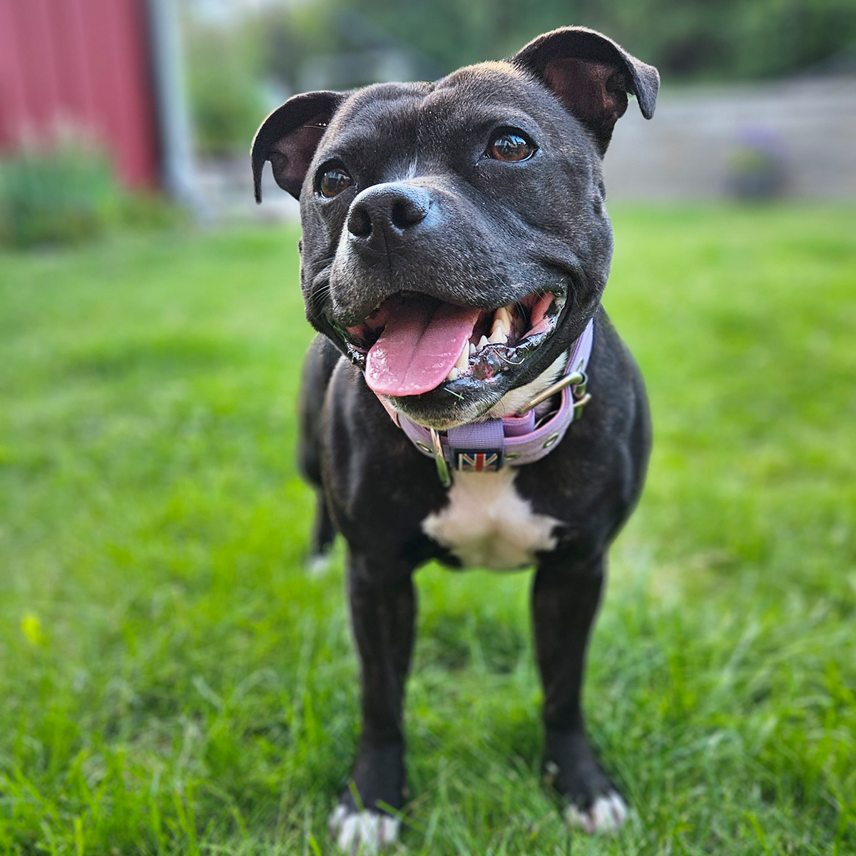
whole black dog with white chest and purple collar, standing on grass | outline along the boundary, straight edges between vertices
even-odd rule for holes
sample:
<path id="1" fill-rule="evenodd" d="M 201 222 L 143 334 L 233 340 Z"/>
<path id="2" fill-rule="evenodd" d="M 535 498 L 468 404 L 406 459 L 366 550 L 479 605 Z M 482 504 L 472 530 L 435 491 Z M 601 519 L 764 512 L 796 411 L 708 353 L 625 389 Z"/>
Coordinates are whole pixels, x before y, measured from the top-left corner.
<path id="1" fill-rule="evenodd" d="M 627 93 L 651 118 L 658 82 L 615 42 L 566 27 L 436 83 L 295 96 L 253 142 L 256 198 L 270 160 L 300 199 L 300 277 L 320 333 L 301 408 L 314 550 L 336 530 L 348 542 L 359 799 L 346 789 L 330 821 L 346 849 L 398 833 L 383 806 L 403 802 L 412 577 L 431 558 L 537 566 L 545 773 L 586 831 L 627 814 L 580 710 L 604 554 L 651 440 L 642 379 L 600 304 L 612 253 L 601 161 Z M 510 418 L 523 411 L 538 425 Z"/>

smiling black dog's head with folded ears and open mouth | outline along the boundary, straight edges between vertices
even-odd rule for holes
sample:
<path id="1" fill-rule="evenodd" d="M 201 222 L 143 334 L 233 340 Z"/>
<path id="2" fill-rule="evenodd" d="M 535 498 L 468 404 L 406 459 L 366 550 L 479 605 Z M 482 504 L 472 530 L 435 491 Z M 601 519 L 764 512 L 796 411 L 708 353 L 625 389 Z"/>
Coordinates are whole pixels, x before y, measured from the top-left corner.
<path id="1" fill-rule="evenodd" d="M 601 161 L 657 69 L 583 27 L 436 83 L 308 92 L 268 116 L 300 199 L 306 317 L 423 425 L 478 419 L 550 366 L 597 308 L 612 230 Z"/>

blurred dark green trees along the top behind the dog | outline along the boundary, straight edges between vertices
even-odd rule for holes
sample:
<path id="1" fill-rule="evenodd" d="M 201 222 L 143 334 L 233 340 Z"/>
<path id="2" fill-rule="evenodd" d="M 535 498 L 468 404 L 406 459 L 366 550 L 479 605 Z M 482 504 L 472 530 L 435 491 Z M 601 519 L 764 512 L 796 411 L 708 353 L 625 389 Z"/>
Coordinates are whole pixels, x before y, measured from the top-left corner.
<path id="1" fill-rule="evenodd" d="M 282 71 L 307 51 L 353 50 L 370 30 L 441 73 L 507 56 L 566 24 L 608 33 L 673 80 L 795 74 L 856 45 L 853 0 L 541 0 L 525 9 L 517 0 L 320 0 L 267 15 L 271 62 Z"/>

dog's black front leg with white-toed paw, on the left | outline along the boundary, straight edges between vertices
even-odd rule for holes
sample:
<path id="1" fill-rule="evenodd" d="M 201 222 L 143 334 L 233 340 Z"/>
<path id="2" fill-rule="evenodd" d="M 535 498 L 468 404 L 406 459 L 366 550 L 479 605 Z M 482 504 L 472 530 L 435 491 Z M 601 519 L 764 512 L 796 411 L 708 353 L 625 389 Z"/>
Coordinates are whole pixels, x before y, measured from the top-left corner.
<path id="1" fill-rule="evenodd" d="M 360 655 L 362 733 L 354 775 L 330 817 L 342 849 L 375 853 L 398 836 L 404 791 L 404 682 L 413 651 L 416 597 L 413 569 L 377 567 L 352 552 L 348 559 L 351 624 Z M 354 790 L 356 794 L 354 794 Z"/>

